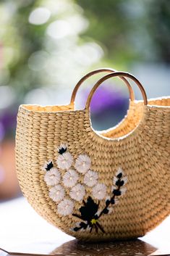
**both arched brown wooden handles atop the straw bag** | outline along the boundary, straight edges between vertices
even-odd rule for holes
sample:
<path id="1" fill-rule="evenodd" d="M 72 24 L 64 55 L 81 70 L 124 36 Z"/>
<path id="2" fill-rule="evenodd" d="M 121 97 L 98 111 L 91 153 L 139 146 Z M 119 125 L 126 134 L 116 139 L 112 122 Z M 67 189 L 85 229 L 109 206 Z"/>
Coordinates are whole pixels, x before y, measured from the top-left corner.
<path id="1" fill-rule="evenodd" d="M 98 70 L 93 70 L 92 72 L 88 73 L 87 75 L 83 76 L 80 81 L 77 83 L 77 85 L 75 86 L 73 92 L 72 92 L 72 97 L 71 97 L 71 101 L 70 104 L 75 104 L 75 97 L 77 95 L 77 91 L 80 88 L 81 84 L 88 78 L 90 78 L 90 76 L 95 75 L 97 73 L 101 73 L 101 72 L 108 72 L 108 75 L 104 75 L 103 78 L 101 78 L 100 80 L 98 80 L 97 83 L 95 83 L 95 85 L 93 86 L 92 90 L 90 91 L 90 94 L 88 95 L 88 99 L 87 102 L 85 104 L 85 108 L 89 108 L 90 107 L 90 102 L 93 98 L 93 95 L 95 94 L 95 91 L 97 90 L 98 86 L 101 85 L 101 83 L 103 83 L 105 80 L 112 78 L 112 77 L 119 77 L 121 78 L 124 83 L 126 83 L 127 88 L 129 89 L 129 99 L 131 101 L 135 100 L 135 95 L 134 95 L 134 91 L 132 89 L 132 86 L 130 85 L 129 81 L 126 78 L 130 78 L 132 79 L 137 86 L 140 88 L 140 91 L 143 95 L 143 102 L 145 105 L 148 104 L 148 99 L 147 99 L 147 95 L 145 93 L 145 89 L 143 88 L 142 84 L 140 83 L 139 80 L 137 80 L 137 78 L 135 78 L 134 75 L 126 73 L 126 72 L 118 72 L 116 70 L 110 69 L 110 68 L 101 68 Z"/>

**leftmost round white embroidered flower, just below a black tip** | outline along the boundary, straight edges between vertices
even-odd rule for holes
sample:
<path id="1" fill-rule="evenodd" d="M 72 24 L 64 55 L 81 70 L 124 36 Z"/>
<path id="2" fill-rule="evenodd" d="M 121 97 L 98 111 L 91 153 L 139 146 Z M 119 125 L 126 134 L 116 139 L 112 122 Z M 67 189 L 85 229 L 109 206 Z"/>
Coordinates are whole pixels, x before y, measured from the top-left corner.
<path id="1" fill-rule="evenodd" d="M 51 168 L 48 170 L 44 176 L 44 181 L 46 181 L 46 184 L 48 186 L 54 186 L 59 183 L 61 174 L 59 173 L 59 170 L 56 168 Z"/>

